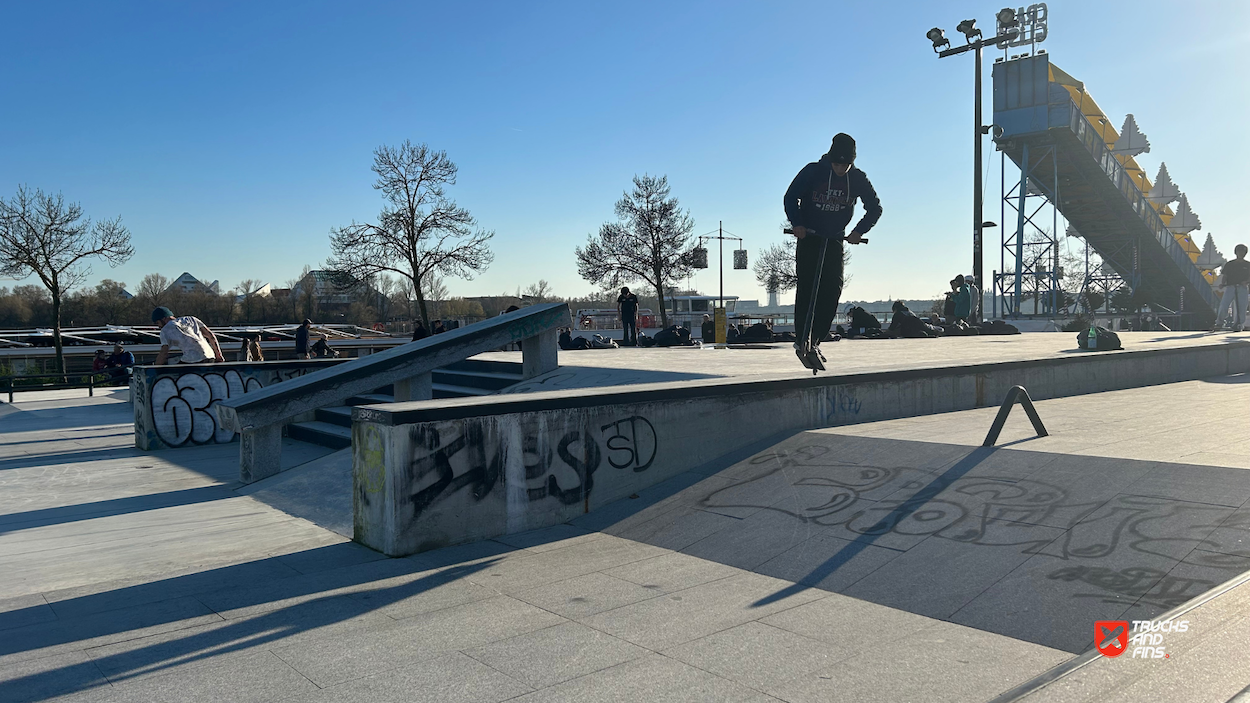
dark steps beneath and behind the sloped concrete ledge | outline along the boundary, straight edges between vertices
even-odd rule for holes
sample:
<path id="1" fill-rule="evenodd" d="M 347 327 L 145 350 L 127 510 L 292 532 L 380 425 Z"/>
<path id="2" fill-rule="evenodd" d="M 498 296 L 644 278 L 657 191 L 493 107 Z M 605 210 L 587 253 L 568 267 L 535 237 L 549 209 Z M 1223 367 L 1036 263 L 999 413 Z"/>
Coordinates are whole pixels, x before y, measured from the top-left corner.
<path id="1" fill-rule="evenodd" d="M 435 399 L 490 395 L 522 380 L 521 364 L 519 363 L 478 359 L 465 359 L 435 369 L 431 375 L 434 377 Z M 354 405 L 394 403 L 394 389 L 388 385 L 374 393 L 354 395 L 348 399 L 346 405 L 318 408 L 316 419 L 291 423 L 286 427 L 286 437 L 331 449 L 346 449 L 351 447 L 351 408 Z"/>

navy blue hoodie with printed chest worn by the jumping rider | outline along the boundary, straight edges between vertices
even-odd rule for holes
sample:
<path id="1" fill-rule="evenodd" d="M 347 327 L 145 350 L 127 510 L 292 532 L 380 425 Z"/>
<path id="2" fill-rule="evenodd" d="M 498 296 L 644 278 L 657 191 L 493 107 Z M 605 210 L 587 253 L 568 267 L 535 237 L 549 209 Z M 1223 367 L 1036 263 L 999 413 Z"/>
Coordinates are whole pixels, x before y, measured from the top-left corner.
<path id="1" fill-rule="evenodd" d="M 846 233 L 855 200 L 864 204 L 864 216 L 855 229 L 860 234 L 881 219 L 881 201 L 864 171 L 851 166 L 846 175 L 834 173 L 829 156 L 812 161 L 794 176 L 785 191 L 785 216 L 791 225 L 814 229 L 822 236 Z"/>

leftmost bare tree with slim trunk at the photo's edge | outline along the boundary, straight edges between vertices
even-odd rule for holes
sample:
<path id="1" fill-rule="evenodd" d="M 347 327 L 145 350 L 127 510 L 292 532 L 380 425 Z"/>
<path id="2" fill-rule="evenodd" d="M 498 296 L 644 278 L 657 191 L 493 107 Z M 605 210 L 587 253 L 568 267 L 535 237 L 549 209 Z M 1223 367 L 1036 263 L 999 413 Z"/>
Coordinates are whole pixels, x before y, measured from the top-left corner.
<path id="1" fill-rule="evenodd" d="M 134 253 L 120 216 L 92 224 L 82 216 L 81 205 L 65 203 L 60 193 L 31 193 L 26 186 L 19 186 L 12 200 L 0 198 L 0 275 L 38 276 L 52 296 L 58 372 L 65 370 L 61 300 L 91 275 L 85 260 L 100 258 L 118 266 Z"/>

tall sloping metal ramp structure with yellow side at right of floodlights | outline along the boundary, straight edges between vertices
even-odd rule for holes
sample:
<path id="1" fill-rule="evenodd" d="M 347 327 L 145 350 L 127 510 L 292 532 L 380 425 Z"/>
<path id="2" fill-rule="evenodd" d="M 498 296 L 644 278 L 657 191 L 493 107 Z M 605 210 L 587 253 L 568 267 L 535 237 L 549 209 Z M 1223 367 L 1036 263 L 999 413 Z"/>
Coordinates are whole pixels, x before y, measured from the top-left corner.
<path id="1" fill-rule="evenodd" d="M 1199 250 L 1189 233 L 1198 223 L 1188 201 L 1181 196 L 1180 210 L 1174 213 L 1169 203 L 1175 196 L 1158 196 L 1160 189 L 1152 189 L 1132 158 L 1142 149 L 1124 148 L 1125 140 L 1084 84 L 1051 65 L 1046 54 L 1000 61 L 994 65 L 994 124 L 999 150 L 1020 166 L 1020 183 L 1012 190 L 1019 194 L 1020 221 L 1015 235 L 1008 236 L 1014 236 L 1015 265 L 995 276 L 996 295 L 1015 300 L 1019 311 L 1020 290 L 1028 285 L 1022 279 L 1058 275 L 1054 265 L 1040 266 L 1041 273 L 1030 270 L 1024 255 L 1029 246 L 1025 220 L 1031 211 L 1025 199 L 1040 195 L 1129 284 L 1138 300 L 1156 313 L 1180 314 L 1182 329 L 1214 323 L 1219 296 L 1210 271 L 1204 275 L 1195 263 Z M 1140 136 L 1131 115 L 1125 125 L 1130 124 L 1134 138 Z"/>

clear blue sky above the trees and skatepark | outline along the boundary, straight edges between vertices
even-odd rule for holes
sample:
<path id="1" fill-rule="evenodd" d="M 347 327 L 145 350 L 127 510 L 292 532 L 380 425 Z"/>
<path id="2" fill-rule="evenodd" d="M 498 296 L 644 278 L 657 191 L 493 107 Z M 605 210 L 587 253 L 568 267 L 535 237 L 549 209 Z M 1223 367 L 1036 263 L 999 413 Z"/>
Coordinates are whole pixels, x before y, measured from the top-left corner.
<path id="1" fill-rule="evenodd" d="M 1049 5 L 1052 61 L 1116 126 L 1135 114 L 1152 146 L 1140 161 L 1151 175 L 1168 163 L 1225 253 L 1250 240 L 1250 4 Z M 698 233 L 724 220 L 754 260 L 782 238 L 790 179 L 848 131 L 885 216 L 855 250 L 846 296 L 928 298 L 970 269 L 972 64 L 938 60 L 924 34 L 954 35 L 965 16 L 989 33 L 998 8 L 10 3 L 0 195 L 29 184 L 121 215 L 136 254 L 95 264 L 91 283 L 186 270 L 280 285 L 325 259 L 331 226 L 376 216 L 376 145 L 425 141 L 460 166 L 450 193 L 496 231 L 495 264 L 451 293 L 542 278 L 574 295 L 592 286 L 572 249 L 634 174 L 666 174 Z M 714 293 L 715 268 L 692 283 Z M 749 271 L 725 286 L 764 295 Z"/>

